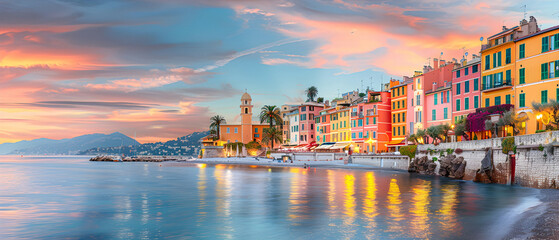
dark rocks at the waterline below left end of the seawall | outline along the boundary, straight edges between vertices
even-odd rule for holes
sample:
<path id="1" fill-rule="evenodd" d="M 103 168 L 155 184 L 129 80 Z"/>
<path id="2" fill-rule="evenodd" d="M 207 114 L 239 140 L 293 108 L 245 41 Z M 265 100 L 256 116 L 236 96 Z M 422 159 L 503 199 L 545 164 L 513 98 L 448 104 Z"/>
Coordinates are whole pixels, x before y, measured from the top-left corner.
<path id="1" fill-rule="evenodd" d="M 438 171 L 437 165 L 440 166 Z M 427 156 L 423 156 L 415 158 L 410 163 L 408 171 L 424 175 L 439 175 L 462 179 L 466 171 L 466 161 L 464 161 L 463 157 L 456 157 L 456 155 L 444 156 L 436 161 L 429 160 Z"/>

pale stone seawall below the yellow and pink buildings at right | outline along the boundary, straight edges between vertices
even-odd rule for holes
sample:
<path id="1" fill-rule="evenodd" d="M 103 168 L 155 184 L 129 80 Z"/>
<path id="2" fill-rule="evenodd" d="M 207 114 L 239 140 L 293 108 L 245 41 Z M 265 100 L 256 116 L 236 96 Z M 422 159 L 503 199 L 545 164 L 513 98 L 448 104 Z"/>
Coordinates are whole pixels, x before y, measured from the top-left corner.
<path id="1" fill-rule="evenodd" d="M 516 136 L 514 139 L 515 161 L 502 152 L 503 138 L 419 145 L 414 161 L 441 159 L 441 152 L 448 156 L 448 149 L 461 149 L 461 153 L 451 155 L 462 157 L 466 162 L 464 180 L 510 184 L 514 176 L 514 183 L 521 186 L 559 188 L 559 131 Z M 480 169 L 488 151 L 491 152 L 492 170 L 485 174 Z"/>

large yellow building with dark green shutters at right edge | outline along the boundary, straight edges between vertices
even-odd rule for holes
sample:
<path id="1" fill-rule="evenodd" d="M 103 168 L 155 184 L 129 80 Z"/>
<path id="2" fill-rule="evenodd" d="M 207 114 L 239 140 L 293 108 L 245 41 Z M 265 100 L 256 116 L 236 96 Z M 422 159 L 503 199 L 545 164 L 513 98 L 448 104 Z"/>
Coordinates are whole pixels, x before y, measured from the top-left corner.
<path id="1" fill-rule="evenodd" d="M 532 134 L 536 130 L 545 129 L 547 117 L 537 117 L 533 112 L 532 103 L 547 103 L 559 100 L 559 25 L 544 30 L 537 29 L 533 21 L 535 33 L 515 39 L 516 50 L 516 111 L 519 115 L 528 116 L 525 133 Z"/>

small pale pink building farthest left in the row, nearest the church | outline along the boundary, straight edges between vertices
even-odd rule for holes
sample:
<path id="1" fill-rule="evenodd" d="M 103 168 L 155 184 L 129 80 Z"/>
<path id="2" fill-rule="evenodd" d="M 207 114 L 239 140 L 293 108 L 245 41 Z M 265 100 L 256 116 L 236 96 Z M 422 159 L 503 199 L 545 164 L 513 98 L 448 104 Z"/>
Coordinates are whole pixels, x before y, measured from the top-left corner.
<path id="1" fill-rule="evenodd" d="M 324 109 L 324 104 L 306 102 L 298 106 L 299 108 L 299 141 L 298 145 L 310 144 L 315 142 L 316 127 L 315 116 L 320 115 Z"/>

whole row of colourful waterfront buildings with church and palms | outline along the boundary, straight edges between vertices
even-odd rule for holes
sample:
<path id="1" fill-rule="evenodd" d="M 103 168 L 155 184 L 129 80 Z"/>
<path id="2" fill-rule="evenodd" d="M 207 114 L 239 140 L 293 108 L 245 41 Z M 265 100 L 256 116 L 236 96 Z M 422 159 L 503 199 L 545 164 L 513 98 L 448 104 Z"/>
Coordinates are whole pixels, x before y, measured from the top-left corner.
<path id="1" fill-rule="evenodd" d="M 236 143 L 280 152 L 380 154 L 417 144 L 556 130 L 559 25 L 540 29 L 530 17 L 483 41 L 479 53 L 434 57 L 423 69 L 390 79 L 380 89 L 350 91 L 332 100 L 318 97 L 320 86 L 312 86 L 304 103 L 254 106 L 245 92 L 241 122 L 213 117 L 200 157 L 216 157 L 204 156 L 204 149 L 212 147 L 222 147 L 221 156 L 235 155 L 228 149 Z M 259 121 L 253 122 L 253 111 L 260 107 Z"/>

